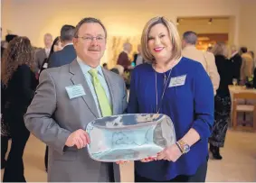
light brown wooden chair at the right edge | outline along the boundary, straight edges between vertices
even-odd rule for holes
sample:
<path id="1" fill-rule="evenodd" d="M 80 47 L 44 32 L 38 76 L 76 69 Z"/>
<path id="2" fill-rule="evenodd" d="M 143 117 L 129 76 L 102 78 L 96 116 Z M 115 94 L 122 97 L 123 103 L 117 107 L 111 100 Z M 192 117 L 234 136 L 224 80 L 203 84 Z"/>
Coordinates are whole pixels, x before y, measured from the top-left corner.
<path id="1" fill-rule="evenodd" d="M 232 124 L 233 129 L 237 128 L 237 112 L 253 113 L 253 125 L 251 127 L 242 127 L 244 129 L 252 130 L 256 132 L 256 103 L 251 105 L 240 105 L 238 104 L 239 99 L 254 100 L 256 102 L 256 93 L 242 92 L 233 94 L 233 107 L 232 107 Z"/>

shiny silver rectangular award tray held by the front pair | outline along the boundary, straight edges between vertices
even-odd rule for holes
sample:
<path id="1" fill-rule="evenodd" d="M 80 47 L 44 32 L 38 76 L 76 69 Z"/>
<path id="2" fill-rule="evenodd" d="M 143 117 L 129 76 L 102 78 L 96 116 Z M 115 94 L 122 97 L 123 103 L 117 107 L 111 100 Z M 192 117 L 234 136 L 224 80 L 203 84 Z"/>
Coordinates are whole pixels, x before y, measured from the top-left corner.
<path id="1" fill-rule="evenodd" d="M 142 160 L 176 142 L 166 114 L 121 114 L 103 117 L 86 127 L 90 158 L 104 162 Z"/>

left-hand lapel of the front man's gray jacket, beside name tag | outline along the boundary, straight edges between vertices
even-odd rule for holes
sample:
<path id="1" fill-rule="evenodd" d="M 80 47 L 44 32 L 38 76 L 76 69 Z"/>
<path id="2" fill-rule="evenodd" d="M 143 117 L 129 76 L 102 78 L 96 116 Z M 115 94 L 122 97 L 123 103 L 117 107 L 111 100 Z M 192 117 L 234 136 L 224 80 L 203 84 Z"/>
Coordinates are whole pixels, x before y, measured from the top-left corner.
<path id="1" fill-rule="evenodd" d="M 82 99 L 84 100 L 86 105 L 89 107 L 90 112 L 94 114 L 96 118 L 99 118 L 100 116 L 99 116 L 95 101 L 93 99 L 93 96 L 90 92 L 90 87 L 88 86 L 87 81 L 84 78 L 84 75 L 76 59 L 73 60 L 70 64 L 70 72 L 73 75 L 71 77 L 72 83 L 74 85 L 81 84 L 82 87 L 84 88 L 85 96 L 82 96 Z"/>

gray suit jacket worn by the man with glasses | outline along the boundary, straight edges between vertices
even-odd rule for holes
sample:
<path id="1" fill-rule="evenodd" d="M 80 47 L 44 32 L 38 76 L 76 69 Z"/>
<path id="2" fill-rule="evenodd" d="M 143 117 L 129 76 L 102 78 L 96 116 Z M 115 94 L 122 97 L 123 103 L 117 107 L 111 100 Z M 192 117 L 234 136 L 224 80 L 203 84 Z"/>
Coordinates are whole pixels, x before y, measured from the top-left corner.
<path id="1" fill-rule="evenodd" d="M 113 114 L 123 114 L 127 91 L 119 75 L 103 69 L 112 99 Z M 85 96 L 70 99 L 65 87 L 81 84 Z M 26 127 L 49 146 L 48 180 L 62 182 L 109 181 L 113 169 L 120 181 L 119 165 L 90 159 L 87 148 L 68 148 L 68 136 L 99 118 L 97 107 L 81 68 L 75 59 L 60 68 L 43 70 L 32 104 L 24 115 Z"/>

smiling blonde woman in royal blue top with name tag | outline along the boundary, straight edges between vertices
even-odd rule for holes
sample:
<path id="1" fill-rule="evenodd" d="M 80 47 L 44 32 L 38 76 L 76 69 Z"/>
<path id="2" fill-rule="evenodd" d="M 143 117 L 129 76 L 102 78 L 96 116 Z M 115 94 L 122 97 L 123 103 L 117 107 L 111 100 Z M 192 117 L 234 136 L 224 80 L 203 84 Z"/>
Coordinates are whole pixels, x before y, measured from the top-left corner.
<path id="1" fill-rule="evenodd" d="M 175 24 L 151 19 L 141 37 L 148 63 L 132 73 L 128 113 L 166 114 L 175 125 L 177 142 L 135 162 L 135 181 L 205 181 L 208 138 L 213 126 L 213 85 L 201 63 L 181 56 Z"/>

